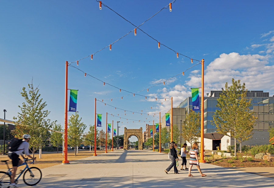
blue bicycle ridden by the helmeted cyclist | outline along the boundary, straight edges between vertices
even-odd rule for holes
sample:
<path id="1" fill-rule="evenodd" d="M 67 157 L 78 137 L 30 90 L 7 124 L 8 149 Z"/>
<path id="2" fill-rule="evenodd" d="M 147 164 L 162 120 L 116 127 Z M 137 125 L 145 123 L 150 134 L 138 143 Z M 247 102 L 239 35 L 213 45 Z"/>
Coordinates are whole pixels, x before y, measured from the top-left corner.
<path id="1" fill-rule="evenodd" d="M 24 182 L 28 185 L 28 186 L 33 186 L 36 185 L 37 183 L 40 182 L 41 178 L 42 178 L 42 172 L 40 169 L 38 169 L 37 167 L 29 167 L 27 164 L 27 161 L 32 160 L 33 162 L 31 162 L 30 164 L 34 163 L 33 159 L 23 159 L 24 162 L 19 165 L 26 165 L 26 167 L 23 170 L 20 170 L 19 176 L 14 179 L 14 183 L 18 183 L 18 179 L 19 177 L 24 173 L 23 175 L 23 180 Z M 5 162 L 7 167 L 8 167 L 8 171 L 7 172 L 3 172 L 0 171 L 0 188 L 8 188 L 10 181 L 11 181 L 11 169 L 9 168 L 8 162 L 9 160 L 4 160 L 1 162 Z"/>

